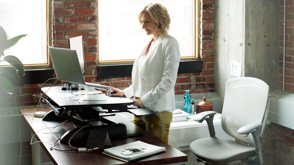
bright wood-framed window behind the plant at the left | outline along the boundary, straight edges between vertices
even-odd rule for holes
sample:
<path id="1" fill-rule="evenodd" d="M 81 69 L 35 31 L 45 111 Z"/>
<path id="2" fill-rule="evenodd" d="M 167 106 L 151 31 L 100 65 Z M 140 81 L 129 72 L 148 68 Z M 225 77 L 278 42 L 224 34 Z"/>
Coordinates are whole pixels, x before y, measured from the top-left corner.
<path id="1" fill-rule="evenodd" d="M 46 33 L 47 0 L 5 0 L 0 2 L 0 6 L 0 26 L 5 29 L 8 38 L 27 34 L 5 50 L 4 55 L 16 56 L 26 68 L 49 67 L 46 46 L 46 41 L 49 41 Z"/>

